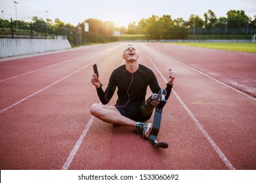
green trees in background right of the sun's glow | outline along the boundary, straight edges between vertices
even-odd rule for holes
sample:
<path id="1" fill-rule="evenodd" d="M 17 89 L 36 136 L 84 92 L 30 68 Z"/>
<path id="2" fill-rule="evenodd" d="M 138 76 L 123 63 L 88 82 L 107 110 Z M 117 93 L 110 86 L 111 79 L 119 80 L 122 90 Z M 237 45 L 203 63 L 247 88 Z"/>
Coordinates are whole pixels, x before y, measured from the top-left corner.
<path id="1" fill-rule="evenodd" d="M 251 30 L 251 32 L 249 32 Z M 226 17 L 217 18 L 212 10 L 200 16 L 191 14 L 188 21 L 183 18 L 173 20 L 170 15 L 152 15 L 132 22 L 125 30 L 127 34 L 146 34 L 152 39 L 184 39 L 188 34 L 255 34 L 256 16 L 250 18 L 244 10 L 230 10 Z"/>

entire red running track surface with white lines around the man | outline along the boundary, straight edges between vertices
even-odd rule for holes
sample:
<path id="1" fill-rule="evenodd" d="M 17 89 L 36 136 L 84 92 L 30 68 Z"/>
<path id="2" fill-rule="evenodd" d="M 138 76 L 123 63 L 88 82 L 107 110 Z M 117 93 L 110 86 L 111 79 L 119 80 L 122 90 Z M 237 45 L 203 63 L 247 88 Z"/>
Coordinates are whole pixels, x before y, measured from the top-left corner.
<path id="1" fill-rule="evenodd" d="M 89 113 L 126 44 L 0 62 L 0 169 L 256 169 L 256 54 L 135 43 L 162 88 L 177 72 L 159 149 Z"/>

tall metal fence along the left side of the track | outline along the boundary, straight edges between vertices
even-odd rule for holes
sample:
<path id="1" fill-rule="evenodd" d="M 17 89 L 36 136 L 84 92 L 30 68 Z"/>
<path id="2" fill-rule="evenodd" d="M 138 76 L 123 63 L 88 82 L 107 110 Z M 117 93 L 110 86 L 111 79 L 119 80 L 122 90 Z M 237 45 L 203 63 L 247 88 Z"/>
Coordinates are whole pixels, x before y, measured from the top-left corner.
<path id="1" fill-rule="evenodd" d="M 17 24 L 18 23 L 18 24 Z M 46 22 L 2 21 L 0 39 L 68 39 L 72 46 L 117 41 L 116 37 L 85 32 L 77 27 L 56 27 Z"/>

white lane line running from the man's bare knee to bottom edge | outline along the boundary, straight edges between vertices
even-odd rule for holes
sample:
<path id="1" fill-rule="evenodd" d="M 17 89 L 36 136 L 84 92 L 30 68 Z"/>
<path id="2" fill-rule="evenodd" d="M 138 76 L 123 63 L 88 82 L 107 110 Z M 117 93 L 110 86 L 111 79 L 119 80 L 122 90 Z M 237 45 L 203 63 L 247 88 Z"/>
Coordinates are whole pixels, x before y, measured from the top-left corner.
<path id="1" fill-rule="evenodd" d="M 91 125 L 93 124 L 94 119 L 95 119 L 95 116 L 91 116 L 89 122 L 85 126 L 85 129 L 83 129 L 83 133 L 80 135 L 79 139 L 75 143 L 75 146 L 74 146 L 72 152 L 70 152 L 70 156 L 68 156 L 68 158 L 66 159 L 66 162 L 64 163 L 64 165 L 62 167 L 62 170 L 68 170 L 68 168 L 70 167 L 70 163 L 72 163 L 75 155 L 77 154 L 77 151 L 79 150 L 79 148 L 83 142 L 83 139 L 85 138 L 85 136 L 87 135 L 87 132 L 89 131 Z"/>

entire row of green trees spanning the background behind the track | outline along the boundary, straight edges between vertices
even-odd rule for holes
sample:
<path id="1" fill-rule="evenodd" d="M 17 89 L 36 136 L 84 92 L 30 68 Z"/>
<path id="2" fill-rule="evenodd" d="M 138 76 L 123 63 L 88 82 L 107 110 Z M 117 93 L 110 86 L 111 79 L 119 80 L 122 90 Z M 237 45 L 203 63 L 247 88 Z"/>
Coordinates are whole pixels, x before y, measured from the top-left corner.
<path id="1" fill-rule="evenodd" d="M 150 39 L 186 39 L 189 34 L 252 34 L 256 33 L 256 16 L 250 18 L 244 10 L 229 10 L 226 17 L 217 18 L 212 10 L 207 10 L 200 16 L 191 14 L 187 21 L 183 18 L 173 20 L 171 15 L 157 16 L 152 15 L 150 18 L 142 18 L 138 23 L 131 22 L 127 28 L 116 27 L 114 22 L 102 22 L 95 18 L 89 18 L 74 26 L 65 24 L 58 18 L 54 22 L 47 19 L 46 22 L 37 16 L 33 17 L 32 22 L 22 22 L 14 20 L 12 23 L 18 23 L 18 29 L 29 29 L 29 24 L 38 27 L 40 31 L 43 27 L 47 31 L 54 31 L 56 27 L 62 29 L 84 30 L 85 22 L 89 24 L 89 32 L 101 35 L 113 35 L 114 31 L 121 34 L 143 34 Z M 9 20 L 0 19 L 1 28 L 10 27 Z"/>

